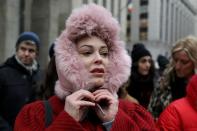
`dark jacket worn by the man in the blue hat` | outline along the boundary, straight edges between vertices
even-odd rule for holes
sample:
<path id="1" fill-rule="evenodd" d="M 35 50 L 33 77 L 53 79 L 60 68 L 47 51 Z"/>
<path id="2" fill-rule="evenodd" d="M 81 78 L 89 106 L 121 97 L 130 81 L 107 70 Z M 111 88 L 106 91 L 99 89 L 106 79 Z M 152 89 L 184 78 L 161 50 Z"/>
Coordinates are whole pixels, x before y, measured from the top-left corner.
<path id="1" fill-rule="evenodd" d="M 40 81 L 40 70 L 30 74 L 16 61 L 15 56 L 0 66 L 0 116 L 10 126 L 14 126 L 20 109 L 36 99 Z"/>

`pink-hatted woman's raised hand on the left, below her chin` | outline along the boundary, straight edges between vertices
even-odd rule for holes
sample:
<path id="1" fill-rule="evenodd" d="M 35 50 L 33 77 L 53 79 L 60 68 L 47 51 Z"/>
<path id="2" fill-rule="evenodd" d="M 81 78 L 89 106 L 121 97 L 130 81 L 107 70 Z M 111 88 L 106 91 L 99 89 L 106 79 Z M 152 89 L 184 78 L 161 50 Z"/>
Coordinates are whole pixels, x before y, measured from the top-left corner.
<path id="1" fill-rule="evenodd" d="M 64 110 L 76 121 L 82 121 L 88 107 L 94 107 L 94 95 L 87 90 L 79 90 L 65 99 Z"/>

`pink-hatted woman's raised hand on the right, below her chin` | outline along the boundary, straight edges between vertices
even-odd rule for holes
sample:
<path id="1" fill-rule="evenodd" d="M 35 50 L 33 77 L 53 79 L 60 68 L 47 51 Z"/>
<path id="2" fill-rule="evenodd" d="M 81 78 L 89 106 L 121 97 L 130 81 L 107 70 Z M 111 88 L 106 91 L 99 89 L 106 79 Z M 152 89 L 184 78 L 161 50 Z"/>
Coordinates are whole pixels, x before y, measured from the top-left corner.
<path id="1" fill-rule="evenodd" d="M 118 112 L 118 99 L 106 89 L 97 90 L 93 95 L 95 102 L 100 105 L 104 112 L 96 106 L 96 113 L 102 122 L 109 122 L 115 119 Z"/>

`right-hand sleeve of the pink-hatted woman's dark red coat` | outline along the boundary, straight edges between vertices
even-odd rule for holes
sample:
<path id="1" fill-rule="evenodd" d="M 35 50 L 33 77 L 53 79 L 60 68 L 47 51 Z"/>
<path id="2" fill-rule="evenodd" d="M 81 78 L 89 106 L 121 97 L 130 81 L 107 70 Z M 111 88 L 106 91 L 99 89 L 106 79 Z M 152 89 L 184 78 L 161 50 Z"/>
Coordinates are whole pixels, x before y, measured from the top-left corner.
<path id="1" fill-rule="evenodd" d="M 112 125 L 112 131 L 155 131 L 151 114 L 142 106 L 129 101 L 120 101 L 119 111 Z"/>

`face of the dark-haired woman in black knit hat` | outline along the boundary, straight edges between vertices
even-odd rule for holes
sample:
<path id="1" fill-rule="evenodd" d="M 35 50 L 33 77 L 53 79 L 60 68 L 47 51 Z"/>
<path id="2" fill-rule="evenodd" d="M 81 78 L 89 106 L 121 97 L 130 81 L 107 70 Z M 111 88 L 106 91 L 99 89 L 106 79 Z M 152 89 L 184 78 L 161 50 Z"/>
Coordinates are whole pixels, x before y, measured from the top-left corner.
<path id="1" fill-rule="evenodd" d="M 138 61 L 138 72 L 141 75 L 148 75 L 150 68 L 151 68 L 151 57 L 150 56 L 144 56 L 141 57 Z"/>

